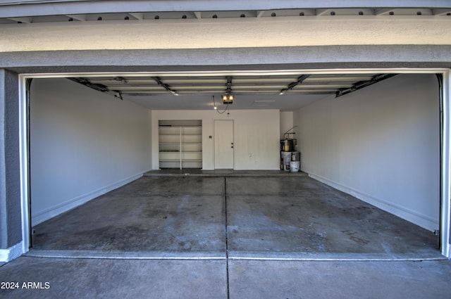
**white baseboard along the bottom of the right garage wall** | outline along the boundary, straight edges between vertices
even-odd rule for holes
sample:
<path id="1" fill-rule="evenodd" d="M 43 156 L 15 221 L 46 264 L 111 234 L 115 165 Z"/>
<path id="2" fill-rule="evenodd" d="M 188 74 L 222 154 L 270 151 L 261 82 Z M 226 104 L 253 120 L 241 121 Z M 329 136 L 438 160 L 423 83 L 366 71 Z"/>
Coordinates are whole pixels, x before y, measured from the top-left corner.
<path id="1" fill-rule="evenodd" d="M 320 175 L 317 174 L 309 173 L 309 177 L 311 177 L 312 179 L 316 179 L 317 181 L 326 184 L 328 186 L 331 186 L 335 189 L 338 189 L 342 192 L 350 194 L 355 198 L 359 198 L 360 200 L 365 201 L 366 203 L 375 205 L 376 207 L 381 208 L 387 212 L 390 212 L 393 215 L 401 217 L 404 220 L 412 222 L 418 225 L 419 227 L 423 227 L 428 231 L 434 231 L 435 229 L 439 229 L 440 227 L 440 223 L 438 222 L 438 220 L 434 220 L 432 217 L 423 215 L 414 210 L 409 210 L 408 208 L 404 208 L 395 203 L 390 203 L 381 198 L 376 198 L 357 189 L 353 189 L 348 186 L 344 186 L 338 182 L 334 182 L 330 179 L 327 179 L 326 177 L 321 177 Z"/>

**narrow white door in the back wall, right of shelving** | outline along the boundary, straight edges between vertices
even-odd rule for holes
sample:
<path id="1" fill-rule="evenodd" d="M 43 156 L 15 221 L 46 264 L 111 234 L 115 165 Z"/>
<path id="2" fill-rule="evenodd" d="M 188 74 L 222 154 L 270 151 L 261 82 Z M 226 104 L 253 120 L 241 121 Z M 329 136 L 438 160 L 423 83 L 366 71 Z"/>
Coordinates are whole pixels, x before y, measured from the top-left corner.
<path id="1" fill-rule="evenodd" d="M 233 120 L 214 121 L 214 168 L 233 170 Z"/>

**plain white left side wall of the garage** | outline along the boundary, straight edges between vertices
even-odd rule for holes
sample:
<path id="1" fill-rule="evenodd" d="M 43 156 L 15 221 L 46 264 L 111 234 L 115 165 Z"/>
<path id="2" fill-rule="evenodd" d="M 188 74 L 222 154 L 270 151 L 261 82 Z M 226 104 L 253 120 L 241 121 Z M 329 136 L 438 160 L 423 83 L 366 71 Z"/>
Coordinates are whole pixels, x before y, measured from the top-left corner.
<path id="1" fill-rule="evenodd" d="M 151 111 L 69 79 L 34 79 L 32 225 L 150 170 Z"/>

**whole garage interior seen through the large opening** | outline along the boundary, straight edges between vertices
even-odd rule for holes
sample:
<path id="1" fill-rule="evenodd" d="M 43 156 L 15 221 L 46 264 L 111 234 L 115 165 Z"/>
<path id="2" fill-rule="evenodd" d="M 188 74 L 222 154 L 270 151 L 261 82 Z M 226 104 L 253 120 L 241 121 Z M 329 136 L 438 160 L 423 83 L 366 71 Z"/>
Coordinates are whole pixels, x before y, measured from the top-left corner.
<path id="1" fill-rule="evenodd" d="M 28 255 L 440 257 L 434 74 L 115 74 L 30 95 Z M 163 142 L 172 126 L 197 139 Z M 285 132 L 301 172 L 280 170 Z"/>

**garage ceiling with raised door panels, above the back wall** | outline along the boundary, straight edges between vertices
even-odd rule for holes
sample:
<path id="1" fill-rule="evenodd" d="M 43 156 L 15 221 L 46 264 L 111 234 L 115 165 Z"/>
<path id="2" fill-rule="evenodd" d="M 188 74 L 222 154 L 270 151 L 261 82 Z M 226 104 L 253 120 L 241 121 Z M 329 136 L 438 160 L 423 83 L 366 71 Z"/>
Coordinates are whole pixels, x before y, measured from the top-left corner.
<path id="1" fill-rule="evenodd" d="M 69 79 L 116 98 L 153 110 L 205 110 L 223 106 L 221 96 L 234 96 L 230 109 L 297 110 L 326 96 L 338 97 L 394 74 L 290 75 L 112 75 Z"/>

